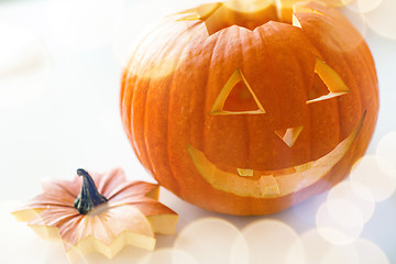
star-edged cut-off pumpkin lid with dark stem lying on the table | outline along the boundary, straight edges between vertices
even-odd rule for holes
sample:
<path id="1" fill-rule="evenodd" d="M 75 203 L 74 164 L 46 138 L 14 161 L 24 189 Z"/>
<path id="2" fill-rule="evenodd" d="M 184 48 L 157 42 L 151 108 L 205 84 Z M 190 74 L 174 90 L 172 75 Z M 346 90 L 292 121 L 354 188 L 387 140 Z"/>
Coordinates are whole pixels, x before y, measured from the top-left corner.
<path id="1" fill-rule="evenodd" d="M 113 257 L 124 245 L 153 250 L 154 233 L 175 232 L 177 215 L 158 199 L 158 185 L 127 182 L 122 169 L 43 184 L 43 194 L 14 211 L 43 238 L 61 238 L 72 262 L 91 251 Z M 98 186 L 98 188 L 97 188 Z"/>

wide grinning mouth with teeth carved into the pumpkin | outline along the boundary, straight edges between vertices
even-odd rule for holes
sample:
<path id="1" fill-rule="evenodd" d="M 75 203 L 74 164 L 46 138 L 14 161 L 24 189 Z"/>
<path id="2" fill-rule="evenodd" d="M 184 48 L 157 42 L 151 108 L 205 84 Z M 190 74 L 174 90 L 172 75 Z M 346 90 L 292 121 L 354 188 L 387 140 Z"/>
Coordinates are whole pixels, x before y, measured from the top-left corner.
<path id="1" fill-rule="evenodd" d="M 280 197 L 308 187 L 329 173 L 352 146 L 364 118 L 365 112 L 351 134 L 324 156 L 289 168 L 266 170 L 258 177 L 252 176 L 263 173 L 262 170 L 235 168 L 235 174 L 232 174 L 218 168 L 204 152 L 194 146 L 187 144 L 187 150 L 199 174 L 213 188 L 242 197 Z"/>

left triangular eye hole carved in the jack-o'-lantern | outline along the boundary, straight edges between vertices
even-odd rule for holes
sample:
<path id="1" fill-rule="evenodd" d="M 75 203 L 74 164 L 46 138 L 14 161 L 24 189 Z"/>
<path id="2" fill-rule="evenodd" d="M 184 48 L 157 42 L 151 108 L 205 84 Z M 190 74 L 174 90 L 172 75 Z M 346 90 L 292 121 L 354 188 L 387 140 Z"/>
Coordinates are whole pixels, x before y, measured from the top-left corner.
<path id="1" fill-rule="evenodd" d="M 256 95 L 240 69 L 237 69 L 221 89 L 210 114 L 265 113 Z"/>

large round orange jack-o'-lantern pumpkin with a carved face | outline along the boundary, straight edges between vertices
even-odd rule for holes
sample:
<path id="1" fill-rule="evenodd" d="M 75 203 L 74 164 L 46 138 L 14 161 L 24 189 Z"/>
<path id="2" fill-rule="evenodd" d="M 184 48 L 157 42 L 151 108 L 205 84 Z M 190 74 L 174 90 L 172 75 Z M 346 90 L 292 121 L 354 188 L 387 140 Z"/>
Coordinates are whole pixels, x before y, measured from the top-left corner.
<path id="1" fill-rule="evenodd" d="M 168 16 L 145 36 L 123 73 L 124 131 L 154 178 L 201 208 L 246 216 L 284 210 L 346 177 L 370 143 L 378 111 L 374 62 L 350 22 L 315 2 L 295 9 L 295 25 L 249 24 L 238 15 L 233 22 L 242 26 L 213 25 L 208 16 L 216 12 L 207 20 L 188 12 Z M 319 89 L 318 62 L 331 67 L 349 91 L 310 101 L 311 90 Z M 320 77 L 329 91 L 334 85 L 323 76 L 330 72 Z M 235 73 L 263 112 L 237 113 L 238 102 L 220 103 L 224 111 L 213 112 Z M 288 146 L 276 132 L 296 127 L 304 129 Z M 340 146 L 346 139 L 350 144 Z M 337 147 L 344 150 L 336 164 L 331 156 L 320 160 Z M 318 178 L 311 173 L 309 184 L 308 170 L 288 174 L 311 161 L 331 166 L 318 168 L 323 172 Z M 240 176 L 238 168 L 254 173 Z M 205 175 L 210 169 L 216 173 Z"/>

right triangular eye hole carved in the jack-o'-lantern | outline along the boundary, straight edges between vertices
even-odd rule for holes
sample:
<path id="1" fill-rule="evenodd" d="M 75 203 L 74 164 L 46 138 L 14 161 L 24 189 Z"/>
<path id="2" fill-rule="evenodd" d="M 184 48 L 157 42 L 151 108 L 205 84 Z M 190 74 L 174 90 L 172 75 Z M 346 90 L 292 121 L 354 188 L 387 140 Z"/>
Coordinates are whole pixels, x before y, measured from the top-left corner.
<path id="1" fill-rule="evenodd" d="M 336 70 L 319 58 L 317 58 L 315 64 L 315 74 L 316 79 L 314 80 L 312 89 L 309 92 L 308 101 L 306 102 L 307 105 L 350 92 L 350 89 Z M 318 77 L 321 81 L 318 81 Z M 327 89 L 324 95 L 323 85 Z"/>

